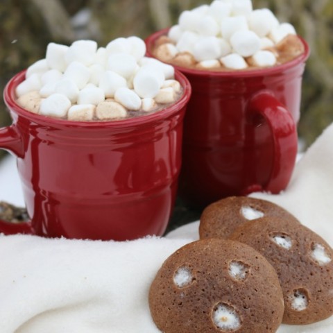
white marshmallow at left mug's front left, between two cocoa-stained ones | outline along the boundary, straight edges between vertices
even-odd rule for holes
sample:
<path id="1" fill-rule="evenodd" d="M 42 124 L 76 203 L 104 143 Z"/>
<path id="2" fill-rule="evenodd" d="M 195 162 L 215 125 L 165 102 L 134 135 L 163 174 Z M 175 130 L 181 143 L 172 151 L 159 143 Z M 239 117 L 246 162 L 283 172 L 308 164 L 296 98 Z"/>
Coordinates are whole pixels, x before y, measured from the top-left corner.
<path id="1" fill-rule="evenodd" d="M 44 116 L 65 117 L 71 101 L 62 94 L 52 94 L 40 103 L 40 114 Z"/>

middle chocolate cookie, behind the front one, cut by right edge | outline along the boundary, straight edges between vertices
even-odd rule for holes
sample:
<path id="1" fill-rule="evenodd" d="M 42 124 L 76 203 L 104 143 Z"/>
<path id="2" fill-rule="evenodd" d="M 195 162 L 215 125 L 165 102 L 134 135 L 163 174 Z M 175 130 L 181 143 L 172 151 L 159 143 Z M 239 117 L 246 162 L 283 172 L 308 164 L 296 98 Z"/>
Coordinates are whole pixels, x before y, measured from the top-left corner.
<path id="1" fill-rule="evenodd" d="M 333 314 L 333 251 L 304 225 L 263 218 L 244 223 L 230 239 L 258 250 L 278 273 L 283 323 L 304 325 Z"/>

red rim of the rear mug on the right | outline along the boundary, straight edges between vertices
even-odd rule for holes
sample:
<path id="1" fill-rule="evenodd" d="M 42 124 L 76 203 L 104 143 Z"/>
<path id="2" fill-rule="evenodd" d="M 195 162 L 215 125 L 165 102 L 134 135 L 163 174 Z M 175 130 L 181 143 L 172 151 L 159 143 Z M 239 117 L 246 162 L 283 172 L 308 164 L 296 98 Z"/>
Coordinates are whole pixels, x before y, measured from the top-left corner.
<path id="1" fill-rule="evenodd" d="M 153 56 L 153 53 L 151 52 L 151 49 L 153 48 L 154 42 L 157 40 L 157 37 L 160 37 L 162 35 L 166 35 L 167 32 L 170 30 L 169 28 L 164 28 L 160 31 L 156 31 L 155 33 L 149 35 L 145 42 L 146 42 L 146 49 L 147 49 L 147 55 L 151 58 L 155 58 L 157 60 L 160 60 Z M 290 60 L 288 62 L 284 62 L 281 65 L 276 65 L 272 67 L 264 67 L 261 69 L 236 69 L 231 71 L 216 71 L 216 70 L 205 70 L 205 69 L 194 69 L 189 67 L 181 67 L 178 65 L 173 65 L 169 62 L 166 62 L 168 65 L 172 65 L 175 67 L 176 70 L 181 71 L 183 74 L 187 75 L 195 75 L 195 76 L 219 76 L 224 78 L 246 78 L 246 77 L 254 77 L 254 76 L 263 76 L 263 75 L 272 75 L 276 73 L 280 73 L 281 71 L 285 71 L 287 69 L 291 69 L 292 67 L 295 67 L 296 65 L 299 65 L 302 62 L 305 62 L 309 56 L 310 56 L 310 47 L 307 42 L 300 37 L 300 35 L 297 35 L 300 41 L 302 42 L 303 46 L 305 47 L 305 51 L 300 54 L 300 56 L 294 58 L 293 60 Z M 162 60 L 160 60 L 162 61 Z"/>

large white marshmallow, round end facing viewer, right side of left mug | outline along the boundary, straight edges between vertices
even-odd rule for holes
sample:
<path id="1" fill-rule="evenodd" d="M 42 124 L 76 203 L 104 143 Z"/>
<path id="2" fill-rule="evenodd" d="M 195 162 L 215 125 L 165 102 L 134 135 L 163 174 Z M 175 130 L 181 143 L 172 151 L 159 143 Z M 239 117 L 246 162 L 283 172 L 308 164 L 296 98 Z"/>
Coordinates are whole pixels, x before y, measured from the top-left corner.
<path id="1" fill-rule="evenodd" d="M 160 91 L 164 83 L 164 74 L 159 68 L 151 68 L 148 65 L 142 67 L 133 79 L 135 92 L 144 98 L 153 99 Z"/>

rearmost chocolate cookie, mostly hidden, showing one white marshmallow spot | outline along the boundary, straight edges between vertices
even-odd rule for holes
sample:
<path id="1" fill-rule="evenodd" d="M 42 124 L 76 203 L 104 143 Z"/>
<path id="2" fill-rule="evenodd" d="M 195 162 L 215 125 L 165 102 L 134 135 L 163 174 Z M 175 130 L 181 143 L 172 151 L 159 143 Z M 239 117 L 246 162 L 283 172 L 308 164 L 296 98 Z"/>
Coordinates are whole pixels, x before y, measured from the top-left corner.
<path id="1" fill-rule="evenodd" d="M 228 239 L 242 223 L 262 219 L 264 216 L 278 216 L 286 221 L 298 221 L 295 216 L 275 203 L 246 196 L 230 196 L 205 208 L 200 216 L 200 239 Z"/>

